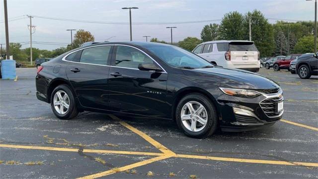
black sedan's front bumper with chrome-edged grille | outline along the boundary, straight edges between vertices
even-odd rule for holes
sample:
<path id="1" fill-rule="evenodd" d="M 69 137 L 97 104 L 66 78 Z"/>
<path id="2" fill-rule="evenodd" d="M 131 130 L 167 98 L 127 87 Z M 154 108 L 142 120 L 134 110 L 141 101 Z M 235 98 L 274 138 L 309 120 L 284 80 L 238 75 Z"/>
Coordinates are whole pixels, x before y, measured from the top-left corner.
<path id="1" fill-rule="evenodd" d="M 254 98 L 222 94 L 217 99 L 220 105 L 221 129 L 223 131 L 248 131 L 269 126 L 282 118 L 284 109 L 277 111 L 277 108 L 278 103 L 283 101 L 281 89 L 277 93 L 262 93 Z"/>

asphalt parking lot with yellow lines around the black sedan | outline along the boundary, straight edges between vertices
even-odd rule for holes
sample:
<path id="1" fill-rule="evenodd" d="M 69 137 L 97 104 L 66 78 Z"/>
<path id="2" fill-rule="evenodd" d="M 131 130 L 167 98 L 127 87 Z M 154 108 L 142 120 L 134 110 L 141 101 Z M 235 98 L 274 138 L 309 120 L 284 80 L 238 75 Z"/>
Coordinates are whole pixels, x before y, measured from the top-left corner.
<path id="1" fill-rule="evenodd" d="M 193 139 L 145 117 L 59 120 L 36 99 L 36 69 L 17 69 L 0 81 L 0 178 L 318 178 L 318 77 L 259 73 L 284 90 L 284 120 Z"/>

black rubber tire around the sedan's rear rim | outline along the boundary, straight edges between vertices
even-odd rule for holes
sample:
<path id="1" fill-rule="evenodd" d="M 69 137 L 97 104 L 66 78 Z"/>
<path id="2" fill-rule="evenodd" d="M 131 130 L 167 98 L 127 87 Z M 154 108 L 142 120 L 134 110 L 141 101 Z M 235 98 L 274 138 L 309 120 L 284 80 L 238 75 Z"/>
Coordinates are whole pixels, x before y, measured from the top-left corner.
<path id="1" fill-rule="evenodd" d="M 58 111 L 56 111 L 54 107 L 54 102 L 53 102 L 55 93 L 61 90 L 64 91 L 69 96 L 69 108 L 65 114 L 60 114 Z M 51 94 L 51 109 L 56 117 L 60 119 L 64 119 L 64 120 L 72 119 L 79 114 L 79 110 L 77 109 L 77 106 L 76 106 L 75 97 L 71 89 L 67 85 L 59 85 L 53 90 Z"/>

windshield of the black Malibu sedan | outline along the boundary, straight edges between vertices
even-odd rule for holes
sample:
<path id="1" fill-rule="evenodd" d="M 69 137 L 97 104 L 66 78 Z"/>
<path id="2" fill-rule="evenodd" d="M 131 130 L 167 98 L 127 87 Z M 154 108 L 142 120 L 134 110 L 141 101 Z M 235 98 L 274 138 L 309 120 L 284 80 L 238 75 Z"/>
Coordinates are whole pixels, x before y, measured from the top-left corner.
<path id="1" fill-rule="evenodd" d="M 158 56 L 162 61 L 175 68 L 203 68 L 212 66 L 208 61 L 194 55 L 191 52 L 175 46 L 150 46 L 149 51 Z"/>

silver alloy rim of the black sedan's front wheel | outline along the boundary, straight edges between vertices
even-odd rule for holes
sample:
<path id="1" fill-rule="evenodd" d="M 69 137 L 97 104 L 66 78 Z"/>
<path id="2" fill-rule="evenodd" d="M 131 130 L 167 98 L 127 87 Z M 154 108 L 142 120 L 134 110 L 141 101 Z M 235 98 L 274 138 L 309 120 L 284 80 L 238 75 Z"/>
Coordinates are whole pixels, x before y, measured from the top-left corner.
<path id="1" fill-rule="evenodd" d="M 208 112 L 197 101 L 185 103 L 181 109 L 181 121 L 185 128 L 192 132 L 201 131 L 208 122 Z"/>

